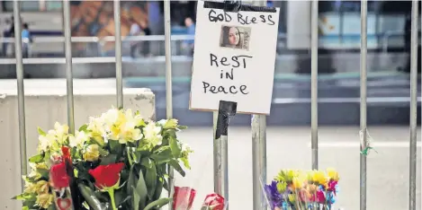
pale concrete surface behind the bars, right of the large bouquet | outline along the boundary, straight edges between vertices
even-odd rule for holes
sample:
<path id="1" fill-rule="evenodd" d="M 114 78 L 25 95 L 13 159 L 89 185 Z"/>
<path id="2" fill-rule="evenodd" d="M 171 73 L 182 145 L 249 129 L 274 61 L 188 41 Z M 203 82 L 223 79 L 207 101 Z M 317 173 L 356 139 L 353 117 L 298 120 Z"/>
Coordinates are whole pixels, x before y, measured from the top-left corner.
<path id="1" fill-rule="evenodd" d="M 319 168 L 334 167 L 340 173 L 336 210 L 359 209 L 359 128 L 319 128 Z M 369 127 L 378 153 L 367 157 L 367 209 L 409 209 L 409 127 Z M 180 134 L 193 147 L 192 170 L 177 186 L 197 190 L 193 209 L 199 209 L 213 191 L 212 128 L 194 127 Z M 420 127 L 418 127 L 417 209 L 421 209 Z M 268 181 L 281 169 L 308 170 L 310 127 L 267 128 Z M 249 127 L 229 129 L 229 205 L 252 210 L 252 141 Z"/>

